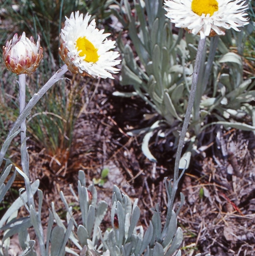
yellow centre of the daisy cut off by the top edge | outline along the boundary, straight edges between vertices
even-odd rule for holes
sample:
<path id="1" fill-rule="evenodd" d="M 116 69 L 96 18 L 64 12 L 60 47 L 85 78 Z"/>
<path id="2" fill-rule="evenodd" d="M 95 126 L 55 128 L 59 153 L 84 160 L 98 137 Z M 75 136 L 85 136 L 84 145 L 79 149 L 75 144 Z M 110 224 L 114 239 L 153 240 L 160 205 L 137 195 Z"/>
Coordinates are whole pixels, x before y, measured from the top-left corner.
<path id="1" fill-rule="evenodd" d="M 212 16 L 214 12 L 218 11 L 219 7 L 216 0 L 193 0 L 191 9 L 199 16 L 201 16 L 202 13 L 205 15 L 209 13 L 210 16 Z"/>

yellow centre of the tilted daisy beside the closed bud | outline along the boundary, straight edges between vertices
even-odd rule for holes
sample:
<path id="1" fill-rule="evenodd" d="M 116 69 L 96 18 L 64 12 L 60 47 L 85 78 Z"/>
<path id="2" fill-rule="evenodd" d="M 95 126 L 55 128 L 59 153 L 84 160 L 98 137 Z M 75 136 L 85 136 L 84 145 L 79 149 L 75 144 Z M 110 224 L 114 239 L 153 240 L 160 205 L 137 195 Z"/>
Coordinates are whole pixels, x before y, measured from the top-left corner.
<path id="1" fill-rule="evenodd" d="M 78 51 L 81 50 L 79 53 L 81 57 L 86 56 L 84 58 L 85 61 L 93 63 L 98 61 L 98 49 L 96 49 L 93 43 L 91 43 L 85 36 L 77 39 L 76 48 Z"/>

